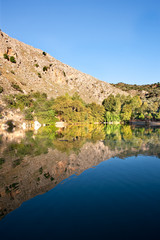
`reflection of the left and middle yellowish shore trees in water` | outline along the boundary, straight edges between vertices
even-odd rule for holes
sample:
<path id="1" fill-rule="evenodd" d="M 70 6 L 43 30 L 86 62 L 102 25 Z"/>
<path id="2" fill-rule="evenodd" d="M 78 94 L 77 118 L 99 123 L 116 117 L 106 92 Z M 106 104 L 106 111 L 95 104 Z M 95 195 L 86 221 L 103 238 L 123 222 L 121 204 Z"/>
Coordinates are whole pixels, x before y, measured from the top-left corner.
<path id="1" fill-rule="evenodd" d="M 96 142 L 104 138 L 103 125 L 70 126 L 60 132 L 50 125 L 40 128 L 37 134 L 33 131 L 26 132 L 20 142 L 6 143 L 3 155 L 23 159 L 26 155 L 47 153 L 49 148 L 57 148 L 66 153 L 70 153 L 71 150 L 78 152 L 86 141 Z"/>

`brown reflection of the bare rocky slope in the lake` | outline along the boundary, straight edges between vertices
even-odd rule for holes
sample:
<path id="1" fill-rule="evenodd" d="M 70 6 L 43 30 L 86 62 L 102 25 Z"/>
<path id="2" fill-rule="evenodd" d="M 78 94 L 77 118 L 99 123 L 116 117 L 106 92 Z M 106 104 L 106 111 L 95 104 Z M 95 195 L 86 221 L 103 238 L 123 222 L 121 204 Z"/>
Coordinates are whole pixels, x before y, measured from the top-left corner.
<path id="1" fill-rule="evenodd" d="M 47 154 L 25 157 L 17 166 L 11 161 L 5 162 L 0 169 L 1 215 L 6 215 L 37 194 L 52 189 L 74 173 L 80 174 L 115 154 L 103 142 L 88 142 L 78 155 L 49 150 Z"/>

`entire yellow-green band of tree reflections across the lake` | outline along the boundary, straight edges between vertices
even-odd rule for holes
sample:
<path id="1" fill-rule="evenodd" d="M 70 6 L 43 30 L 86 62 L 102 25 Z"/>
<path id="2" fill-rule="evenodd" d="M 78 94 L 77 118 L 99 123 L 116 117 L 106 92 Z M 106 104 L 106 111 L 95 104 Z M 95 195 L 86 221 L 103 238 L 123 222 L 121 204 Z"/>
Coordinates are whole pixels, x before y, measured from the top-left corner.
<path id="1" fill-rule="evenodd" d="M 40 155 L 48 152 L 49 148 L 56 148 L 61 152 L 78 153 L 81 147 L 87 142 L 104 140 L 104 144 L 110 150 L 142 151 L 150 149 L 150 153 L 159 156 L 160 150 L 160 129 L 154 128 L 131 128 L 129 125 L 93 125 L 69 126 L 66 129 L 56 132 L 54 126 L 40 128 L 35 135 L 32 131 L 26 132 L 20 142 L 10 142 L 2 154 L 12 156 L 13 160 L 23 159 L 26 155 Z M 154 149 L 154 152 L 153 152 Z M 145 149 L 144 149 L 145 150 Z"/>

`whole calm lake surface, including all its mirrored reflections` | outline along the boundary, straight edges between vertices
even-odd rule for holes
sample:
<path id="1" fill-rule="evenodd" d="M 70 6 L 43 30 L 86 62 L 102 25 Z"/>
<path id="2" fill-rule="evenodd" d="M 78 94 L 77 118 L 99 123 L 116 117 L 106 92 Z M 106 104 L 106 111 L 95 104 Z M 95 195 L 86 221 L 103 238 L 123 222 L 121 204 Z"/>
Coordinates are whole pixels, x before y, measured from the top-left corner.
<path id="1" fill-rule="evenodd" d="M 2 240 L 160 239 L 160 128 L 0 136 Z"/>

